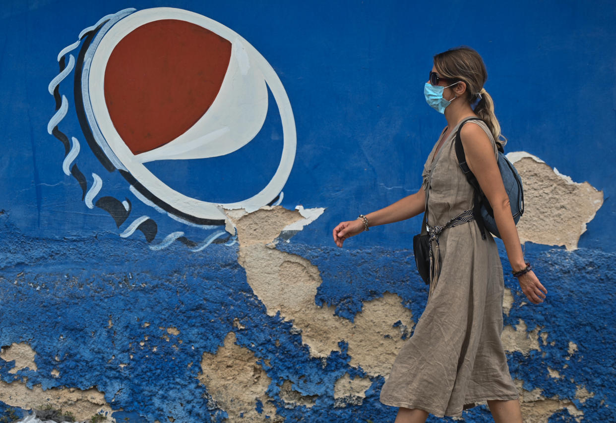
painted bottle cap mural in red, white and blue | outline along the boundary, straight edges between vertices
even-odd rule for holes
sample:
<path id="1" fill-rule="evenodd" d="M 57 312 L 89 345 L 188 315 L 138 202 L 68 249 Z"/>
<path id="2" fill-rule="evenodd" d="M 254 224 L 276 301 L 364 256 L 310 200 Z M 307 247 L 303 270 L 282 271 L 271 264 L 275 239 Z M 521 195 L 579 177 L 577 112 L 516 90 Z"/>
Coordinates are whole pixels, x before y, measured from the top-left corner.
<path id="1" fill-rule="evenodd" d="M 87 207 L 108 212 L 118 228 L 126 226 L 121 237 L 139 230 L 152 242 L 158 225 L 150 215 L 129 219 L 129 199 L 96 199 L 102 178 L 92 173 L 90 183 L 79 169 L 79 138 L 69 141 L 59 129 L 69 108 L 60 84 L 73 71 L 82 139 L 108 172 L 120 172 L 144 204 L 206 230 L 225 224 L 224 210 L 252 212 L 280 204 L 296 151 L 293 111 L 272 66 L 233 30 L 182 9 L 124 9 L 81 31 L 78 41 L 60 51 L 58 61 L 60 73 L 49 83 L 56 113 L 47 132 L 64 144 L 63 172 L 79 182 Z M 275 105 L 270 105 L 269 92 Z M 211 167 L 208 159 L 232 154 L 259 136 L 271 119 L 269 108 L 277 108 L 283 138 L 274 174 L 246 199 L 208 200 L 217 181 L 206 179 L 200 169 Z M 173 172 L 171 160 L 192 162 L 192 175 L 179 188 L 161 176 Z M 191 184 L 192 189 L 185 189 Z M 200 251 L 224 235 L 228 244 L 237 239 L 218 230 L 197 243 L 176 231 L 150 248 L 164 248 L 177 239 Z"/>

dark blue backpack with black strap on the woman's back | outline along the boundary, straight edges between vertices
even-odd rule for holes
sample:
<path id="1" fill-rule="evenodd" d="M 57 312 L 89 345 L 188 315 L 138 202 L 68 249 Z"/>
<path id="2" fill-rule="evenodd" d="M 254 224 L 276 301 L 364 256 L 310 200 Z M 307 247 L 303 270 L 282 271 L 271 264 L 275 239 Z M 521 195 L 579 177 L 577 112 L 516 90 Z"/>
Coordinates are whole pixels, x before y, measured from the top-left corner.
<path id="1" fill-rule="evenodd" d="M 490 207 L 490 202 L 488 202 L 488 199 L 481 191 L 475 175 L 472 174 L 466 164 L 466 156 L 464 155 L 464 148 L 462 146 L 462 141 L 460 140 L 460 130 L 463 125 L 468 121 L 480 120 L 481 119 L 479 119 L 479 117 L 469 117 L 469 119 L 466 119 L 460 124 L 458 132 L 456 133 L 456 156 L 458 157 L 458 164 L 460 164 L 460 168 L 462 169 L 464 176 L 466 176 L 466 180 L 468 180 L 475 191 L 473 211 L 475 213 L 477 225 L 479 226 L 479 231 L 481 232 L 481 237 L 485 239 L 485 229 L 487 229 L 492 232 L 492 234 L 500 238 L 501 236 L 498 233 L 498 228 L 496 228 L 494 212 L 492 211 L 492 207 Z M 503 178 L 503 184 L 505 184 L 505 191 L 507 191 L 507 195 L 509 196 L 509 204 L 511 204 L 511 215 L 513 216 L 513 221 L 517 224 L 520 217 L 524 213 L 524 191 L 522 190 L 522 180 L 514 165 L 509 162 L 507 157 L 505 157 L 503 147 L 498 142 L 496 143 L 496 146 L 498 146 L 498 169 L 500 170 Z"/>

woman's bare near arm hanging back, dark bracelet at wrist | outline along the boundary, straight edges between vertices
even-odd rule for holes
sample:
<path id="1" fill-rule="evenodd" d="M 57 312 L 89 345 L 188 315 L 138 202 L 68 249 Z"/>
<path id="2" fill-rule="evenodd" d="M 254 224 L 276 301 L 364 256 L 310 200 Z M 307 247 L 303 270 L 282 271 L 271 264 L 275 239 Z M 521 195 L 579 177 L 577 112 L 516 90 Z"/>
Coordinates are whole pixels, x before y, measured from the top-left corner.
<path id="1" fill-rule="evenodd" d="M 517 235 L 516 224 L 511 216 L 509 197 L 503 185 L 503 178 L 498 170 L 490 138 L 479 125 L 464 125 L 460 131 L 460 140 L 464 146 L 466 163 L 477 178 L 479 186 L 487 197 L 496 227 L 500 232 L 511 269 L 520 271 L 526 267 L 524 255 Z M 530 271 L 518 278 L 522 292 L 535 304 L 543 302 L 548 291 L 541 285 L 534 272 Z"/>

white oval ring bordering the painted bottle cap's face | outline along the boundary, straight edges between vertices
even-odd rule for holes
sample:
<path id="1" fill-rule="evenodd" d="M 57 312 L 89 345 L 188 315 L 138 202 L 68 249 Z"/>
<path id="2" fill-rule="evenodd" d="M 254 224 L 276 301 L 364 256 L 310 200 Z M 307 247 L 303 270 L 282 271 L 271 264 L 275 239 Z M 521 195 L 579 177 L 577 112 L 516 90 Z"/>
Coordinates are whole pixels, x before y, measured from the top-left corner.
<path id="1" fill-rule="evenodd" d="M 227 204 L 215 204 L 187 197 L 156 178 L 156 176 L 142 164 L 141 160 L 137 159 L 137 157 L 132 154 L 113 126 L 104 97 L 105 68 L 111 52 L 115 45 L 135 28 L 145 23 L 161 19 L 184 20 L 194 23 L 195 25 L 200 25 L 229 41 L 240 42 L 264 75 L 265 81 L 270 87 L 280 111 L 284 143 L 280 164 L 272 180 L 270 180 L 267 186 L 255 196 L 240 202 Z M 84 70 L 83 85 L 86 85 L 86 78 L 87 90 L 89 90 L 90 94 L 89 99 L 92 107 L 92 117 L 95 119 L 95 122 L 91 122 L 91 125 L 95 124 L 100 128 L 108 147 L 113 151 L 115 157 L 123 157 L 121 160 L 123 167 L 126 168 L 137 181 L 143 184 L 148 191 L 171 205 L 171 207 L 196 218 L 225 219 L 225 214 L 221 208 L 245 208 L 247 212 L 253 212 L 259 207 L 267 205 L 280 191 L 282 191 L 291 173 L 291 168 L 293 168 L 297 144 L 291 103 L 274 68 L 272 68 L 267 60 L 262 57 L 261 53 L 257 52 L 251 44 L 241 38 L 237 33 L 230 30 L 230 28 L 227 28 L 227 26 L 203 15 L 182 9 L 157 7 L 154 9 L 139 10 L 121 19 L 104 34 L 103 39 L 94 52 L 91 66 L 89 66 L 89 72 Z"/>

